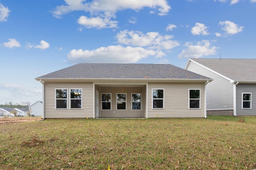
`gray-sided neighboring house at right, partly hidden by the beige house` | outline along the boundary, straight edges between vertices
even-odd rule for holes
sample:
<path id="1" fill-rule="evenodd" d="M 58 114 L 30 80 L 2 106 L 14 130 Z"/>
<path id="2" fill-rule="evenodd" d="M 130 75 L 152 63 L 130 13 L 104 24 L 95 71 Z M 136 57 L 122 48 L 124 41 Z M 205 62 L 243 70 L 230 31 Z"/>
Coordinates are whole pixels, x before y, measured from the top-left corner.
<path id="1" fill-rule="evenodd" d="M 208 115 L 256 115 L 256 59 L 188 59 L 185 69 L 213 79 Z"/>

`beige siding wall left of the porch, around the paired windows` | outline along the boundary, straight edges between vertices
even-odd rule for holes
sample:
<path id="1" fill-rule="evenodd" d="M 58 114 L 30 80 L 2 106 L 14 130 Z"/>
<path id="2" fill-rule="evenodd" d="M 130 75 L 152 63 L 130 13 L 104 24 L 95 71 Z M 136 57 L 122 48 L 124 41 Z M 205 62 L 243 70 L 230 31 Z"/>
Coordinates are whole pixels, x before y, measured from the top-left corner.
<path id="1" fill-rule="evenodd" d="M 68 109 L 55 109 L 55 89 L 68 89 Z M 82 109 L 70 108 L 70 89 L 82 89 Z M 45 118 L 93 118 L 93 83 L 44 83 Z"/>

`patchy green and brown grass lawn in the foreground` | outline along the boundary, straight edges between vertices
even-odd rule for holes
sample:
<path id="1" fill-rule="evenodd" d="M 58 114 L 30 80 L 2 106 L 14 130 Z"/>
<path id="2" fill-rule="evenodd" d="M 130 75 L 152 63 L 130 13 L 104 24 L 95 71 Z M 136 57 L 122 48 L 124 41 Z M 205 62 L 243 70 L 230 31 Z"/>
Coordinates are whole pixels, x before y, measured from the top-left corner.
<path id="1" fill-rule="evenodd" d="M 46 119 L 0 126 L 0 169 L 108 170 L 108 165 L 254 169 L 256 117 Z"/>

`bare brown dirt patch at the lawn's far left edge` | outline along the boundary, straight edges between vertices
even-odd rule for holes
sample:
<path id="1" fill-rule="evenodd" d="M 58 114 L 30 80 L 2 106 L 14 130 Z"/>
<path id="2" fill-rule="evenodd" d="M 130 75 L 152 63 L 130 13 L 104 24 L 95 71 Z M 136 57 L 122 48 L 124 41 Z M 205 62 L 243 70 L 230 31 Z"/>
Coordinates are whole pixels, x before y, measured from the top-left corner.
<path id="1" fill-rule="evenodd" d="M 41 117 L 1 117 L 0 126 L 40 120 Z"/>

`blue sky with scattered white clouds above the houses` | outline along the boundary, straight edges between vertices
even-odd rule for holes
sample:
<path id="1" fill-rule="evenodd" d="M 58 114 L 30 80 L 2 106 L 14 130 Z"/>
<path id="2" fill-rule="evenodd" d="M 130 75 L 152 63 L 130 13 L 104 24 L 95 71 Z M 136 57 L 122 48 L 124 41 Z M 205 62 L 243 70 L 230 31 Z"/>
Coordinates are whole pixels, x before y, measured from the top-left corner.
<path id="1" fill-rule="evenodd" d="M 0 104 L 76 63 L 256 58 L 256 0 L 0 0 Z"/>

